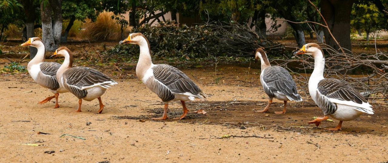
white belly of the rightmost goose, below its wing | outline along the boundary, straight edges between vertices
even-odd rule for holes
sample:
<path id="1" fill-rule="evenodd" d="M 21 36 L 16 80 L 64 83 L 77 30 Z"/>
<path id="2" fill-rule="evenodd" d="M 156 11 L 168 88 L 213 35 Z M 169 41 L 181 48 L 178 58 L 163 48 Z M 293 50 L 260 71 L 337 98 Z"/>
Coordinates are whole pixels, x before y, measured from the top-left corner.
<path id="1" fill-rule="evenodd" d="M 354 106 L 337 104 L 337 110 L 330 116 L 340 121 L 350 121 L 358 118 L 363 112 L 353 109 Z"/>

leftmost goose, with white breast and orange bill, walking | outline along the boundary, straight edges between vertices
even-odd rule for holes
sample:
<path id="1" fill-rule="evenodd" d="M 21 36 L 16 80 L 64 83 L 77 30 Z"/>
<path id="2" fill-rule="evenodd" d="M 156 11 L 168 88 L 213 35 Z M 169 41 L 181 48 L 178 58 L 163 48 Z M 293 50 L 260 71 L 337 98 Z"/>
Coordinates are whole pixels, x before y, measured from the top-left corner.
<path id="1" fill-rule="evenodd" d="M 39 37 L 29 38 L 21 46 L 31 46 L 38 49 L 35 57 L 28 62 L 27 71 L 33 80 L 44 88 L 48 88 L 53 96 L 49 96 L 46 99 L 38 102 L 38 104 L 44 104 L 51 101 L 55 97 L 54 108 L 59 108 L 58 96 L 59 93 L 68 92 L 63 87 L 59 86 L 56 75 L 61 64 L 56 62 L 44 62 L 45 61 L 45 45 Z"/>

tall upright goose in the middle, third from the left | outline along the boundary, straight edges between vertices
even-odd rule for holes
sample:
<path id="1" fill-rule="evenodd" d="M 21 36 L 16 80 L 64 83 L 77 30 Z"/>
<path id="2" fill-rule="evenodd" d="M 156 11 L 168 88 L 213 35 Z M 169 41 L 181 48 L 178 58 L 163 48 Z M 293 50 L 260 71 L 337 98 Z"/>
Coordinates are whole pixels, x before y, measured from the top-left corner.
<path id="1" fill-rule="evenodd" d="M 147 38 L 142 33 L 131 33 L 121 43 L 137 44 L 140 47 L 139 61 L 136 66 L 137 77 L 154 92 L 165 104 L 163 116 L 152 120 L 166 120 L 168 102 L 180 101 L 183 114 L 174 119 L 183 119 L 189 111 L 185 101 L 194 101 L 195 98 L 206 100 L 202 90 L 179 69 L 167 64 L 153 64 L 151 49 Z"/>

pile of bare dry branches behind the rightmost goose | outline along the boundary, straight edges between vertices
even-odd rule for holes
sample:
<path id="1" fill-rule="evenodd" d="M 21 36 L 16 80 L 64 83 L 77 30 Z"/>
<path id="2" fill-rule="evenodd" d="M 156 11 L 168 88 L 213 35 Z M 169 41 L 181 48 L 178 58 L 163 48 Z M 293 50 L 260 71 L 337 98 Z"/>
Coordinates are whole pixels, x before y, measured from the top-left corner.
<path id="1" fill-rule="evenodd" d="M 388 54 L 377 52 L 374 55 L 355 54 L 349 50 L 338 52 L 329 45 L 320 45 L 325 54 L 325 77 L 345 80 L 354 88 L 362 92 L 367 99 L 388 99 Z M 287 58 L 287 56 L 285 56 Z M 298 72 L 311 72 L 314 69 L 314 59 L 310 55 L 295 56 L 287 59 L 276 59 L 275 64 L 288 68 L 290 65 Z M 357 70 L 362 69 L 359 73 Z M 296 80 L 302 92 L 308 94 L 307 73 L 296 73 Z M 359 74 L 359 75 L 353 75 Z"/>

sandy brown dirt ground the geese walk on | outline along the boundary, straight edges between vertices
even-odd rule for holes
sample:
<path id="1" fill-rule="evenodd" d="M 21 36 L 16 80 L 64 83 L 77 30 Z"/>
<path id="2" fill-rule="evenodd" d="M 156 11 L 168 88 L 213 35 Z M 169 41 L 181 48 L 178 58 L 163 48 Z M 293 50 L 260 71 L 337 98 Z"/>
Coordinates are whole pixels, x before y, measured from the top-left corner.
<path id="1" fill-rule="evenodd" d="M 374 115 L 344 122 L 342 131 L 332 132 L 324 128 L 335 127 L 338 121 L 324 121 L 320 127 L 306 123 L 322 116 L 308 97 L 291 102 L 286 114 L 274 114 L 283 105 L 277 100 L 270 113 L 255 113 L 267 104 L 259 69 L 231 64 L 218 65 L 217 71 L 214 64 L 196 69 L 180 66 L 208 95 L 208 101 L 187 102 L 187 107 L 204 109 L 207 116 L 191 113 L 184 120 L 172 120 L 182 113 L 181 105 L 173 102 L 171 119 L 153 121 L 151 117 L 161 116 L 163 105 L 130 67 L 125 68 L 125 76 L 113 76 L 119 84 L 102 96 L 106 105 L 102 114 L 96 114 L 97 100 L 84 101 L 77 113 L 78 99 L 69 93 L 60 94 L 61 108 L 53 109 L 53 102 L 39 105 L 52 94 L 28 74 L 0 76 L 0 162 L 388 161 L 385 102 L 373 103 Z M 112 75 L 115 68 L 97 69 Z M 64 134 L 76 137 L 61 137 Z M 261 137 L 217 139 L 227 135 Z"/>

